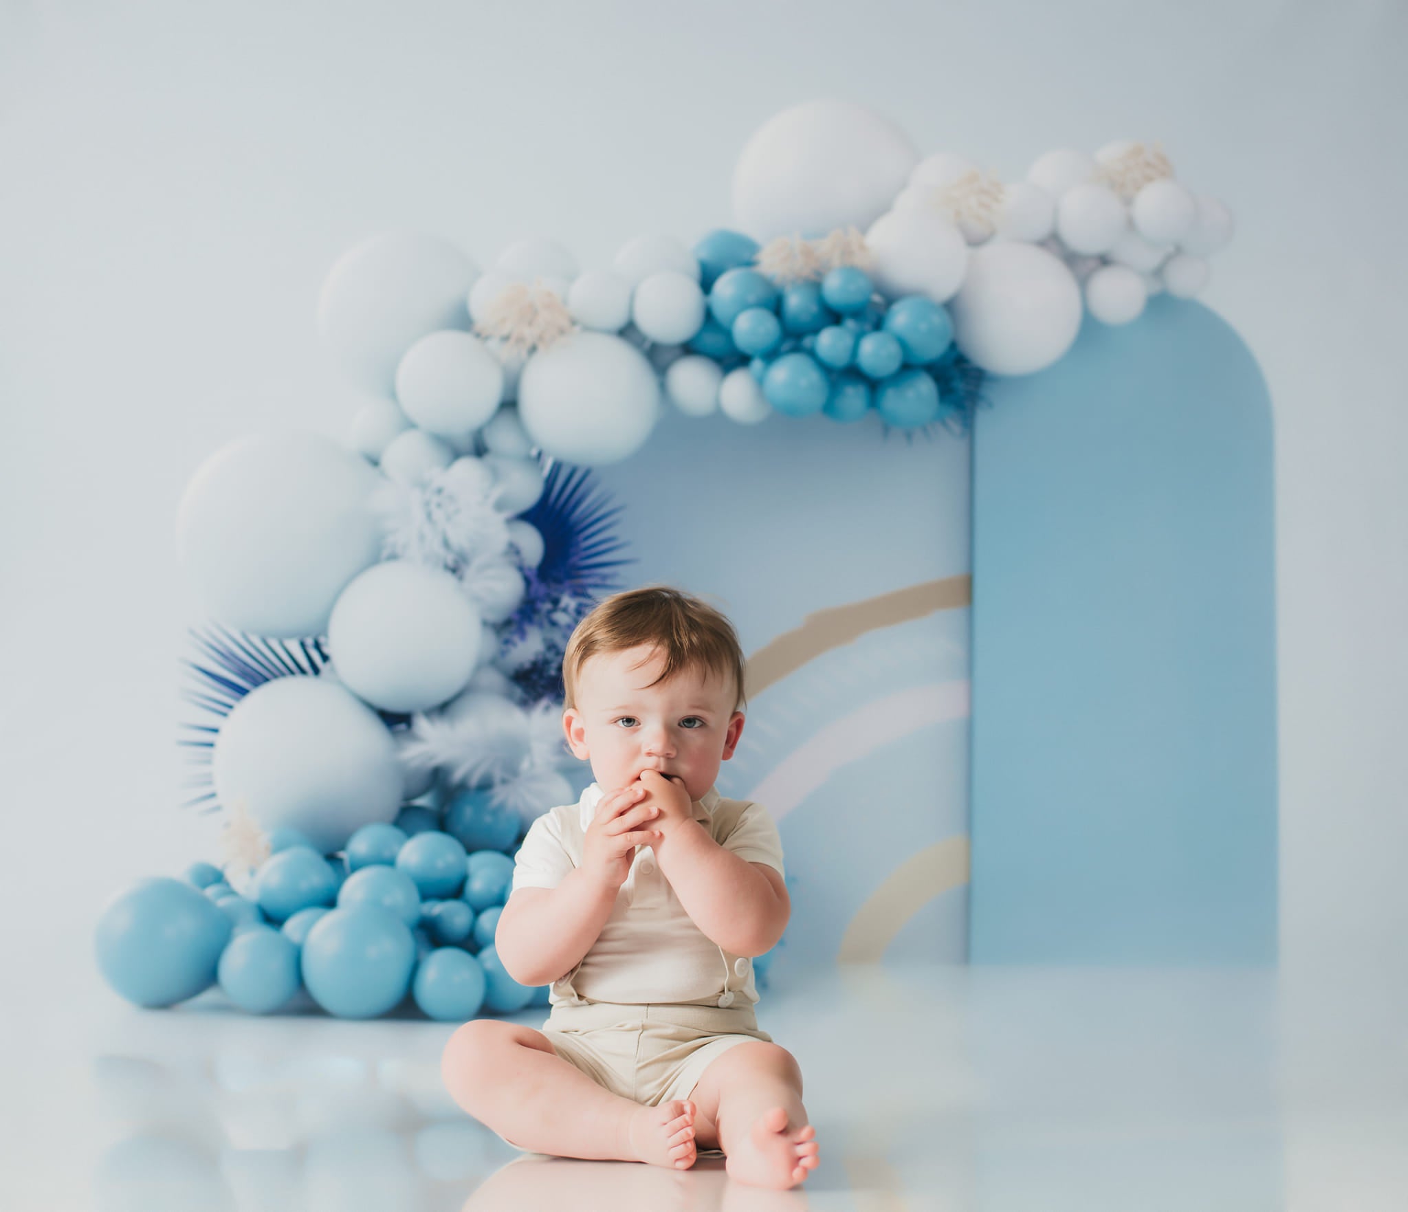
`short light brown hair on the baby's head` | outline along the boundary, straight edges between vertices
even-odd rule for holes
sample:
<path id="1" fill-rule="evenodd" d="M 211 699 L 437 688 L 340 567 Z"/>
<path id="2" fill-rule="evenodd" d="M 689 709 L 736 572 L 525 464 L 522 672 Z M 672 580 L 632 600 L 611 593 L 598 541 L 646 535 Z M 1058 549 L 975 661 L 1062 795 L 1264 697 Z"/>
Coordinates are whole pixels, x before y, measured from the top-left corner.
<path id="1" fill-rule="evenodd" d="M 625 590 L 597 602 L 577 624 L 562 656 L 563 708 L 577 705 L 577 678 L 593 656 L 650 645 L 665 655 L 665 669 L 650 683 L 684 669 L 734 678 L 734 711 L 743 704 L 743 649 L 734 625 L 708 602 L 670 586 Z"/>

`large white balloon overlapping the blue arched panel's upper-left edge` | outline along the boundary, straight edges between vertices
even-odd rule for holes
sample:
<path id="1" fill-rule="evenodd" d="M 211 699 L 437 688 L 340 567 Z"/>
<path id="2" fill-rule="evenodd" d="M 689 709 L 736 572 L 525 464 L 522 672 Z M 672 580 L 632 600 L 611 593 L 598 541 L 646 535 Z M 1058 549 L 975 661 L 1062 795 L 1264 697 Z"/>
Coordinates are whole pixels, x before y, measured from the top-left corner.
<path id="1" fill-rule="evenodd" d="M 993 374 L 1050 366 L 1076 341 L 1084 314 L 1064 262 L 1017 241 L 973 249 L 949 311 L 959 351 Z"/>

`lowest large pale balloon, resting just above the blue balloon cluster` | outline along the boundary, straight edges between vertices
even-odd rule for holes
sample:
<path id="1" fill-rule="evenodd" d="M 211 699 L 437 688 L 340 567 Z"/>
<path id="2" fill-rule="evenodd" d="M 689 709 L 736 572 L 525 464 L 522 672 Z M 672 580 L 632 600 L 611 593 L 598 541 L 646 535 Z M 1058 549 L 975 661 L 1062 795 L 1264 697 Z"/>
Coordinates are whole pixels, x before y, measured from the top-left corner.
<path id="1" fill-rule="evenodd" d="M 211 755 L 215 795 L 265 832 L 297 829 L 324 854 L 390 821 L 404 776 L 382 718 L 328 677 L 277 677 L 230 712 Z"/>

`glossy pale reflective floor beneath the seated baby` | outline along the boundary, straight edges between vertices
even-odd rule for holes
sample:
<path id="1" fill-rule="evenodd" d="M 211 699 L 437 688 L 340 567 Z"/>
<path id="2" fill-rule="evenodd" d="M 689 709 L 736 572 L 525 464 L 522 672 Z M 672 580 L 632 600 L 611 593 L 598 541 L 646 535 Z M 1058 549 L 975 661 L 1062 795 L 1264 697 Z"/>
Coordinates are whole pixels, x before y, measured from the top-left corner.
<path id="1" fill-rule="evenodd" d="M 14 990 L 23 988 L 14 981 Z M 759 1018 L 822 1163 L 804 1188 L 521 1154 L 439 1087 L 449 1025 L 11 997 L 0 1208 L 131 1212 L 1408 1208 L 1401 974 L 849 968 Z M 546 1011 L 517 1015 L 539 1025 Z"/>

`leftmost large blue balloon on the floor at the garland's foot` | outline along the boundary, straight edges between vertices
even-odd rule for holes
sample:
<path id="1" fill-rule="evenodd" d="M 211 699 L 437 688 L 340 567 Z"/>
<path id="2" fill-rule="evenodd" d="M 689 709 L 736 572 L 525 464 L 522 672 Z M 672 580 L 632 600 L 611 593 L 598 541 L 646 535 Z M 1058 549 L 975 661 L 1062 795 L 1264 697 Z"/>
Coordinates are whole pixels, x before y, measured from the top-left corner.
<path id="1" fill-rule="evenodd" d="M 169 1006 L 215 983 L 234 925 L 183 880 L 142 880 L 114 898 L 93 936 L 99 971 L 139 1006 Z"/>

